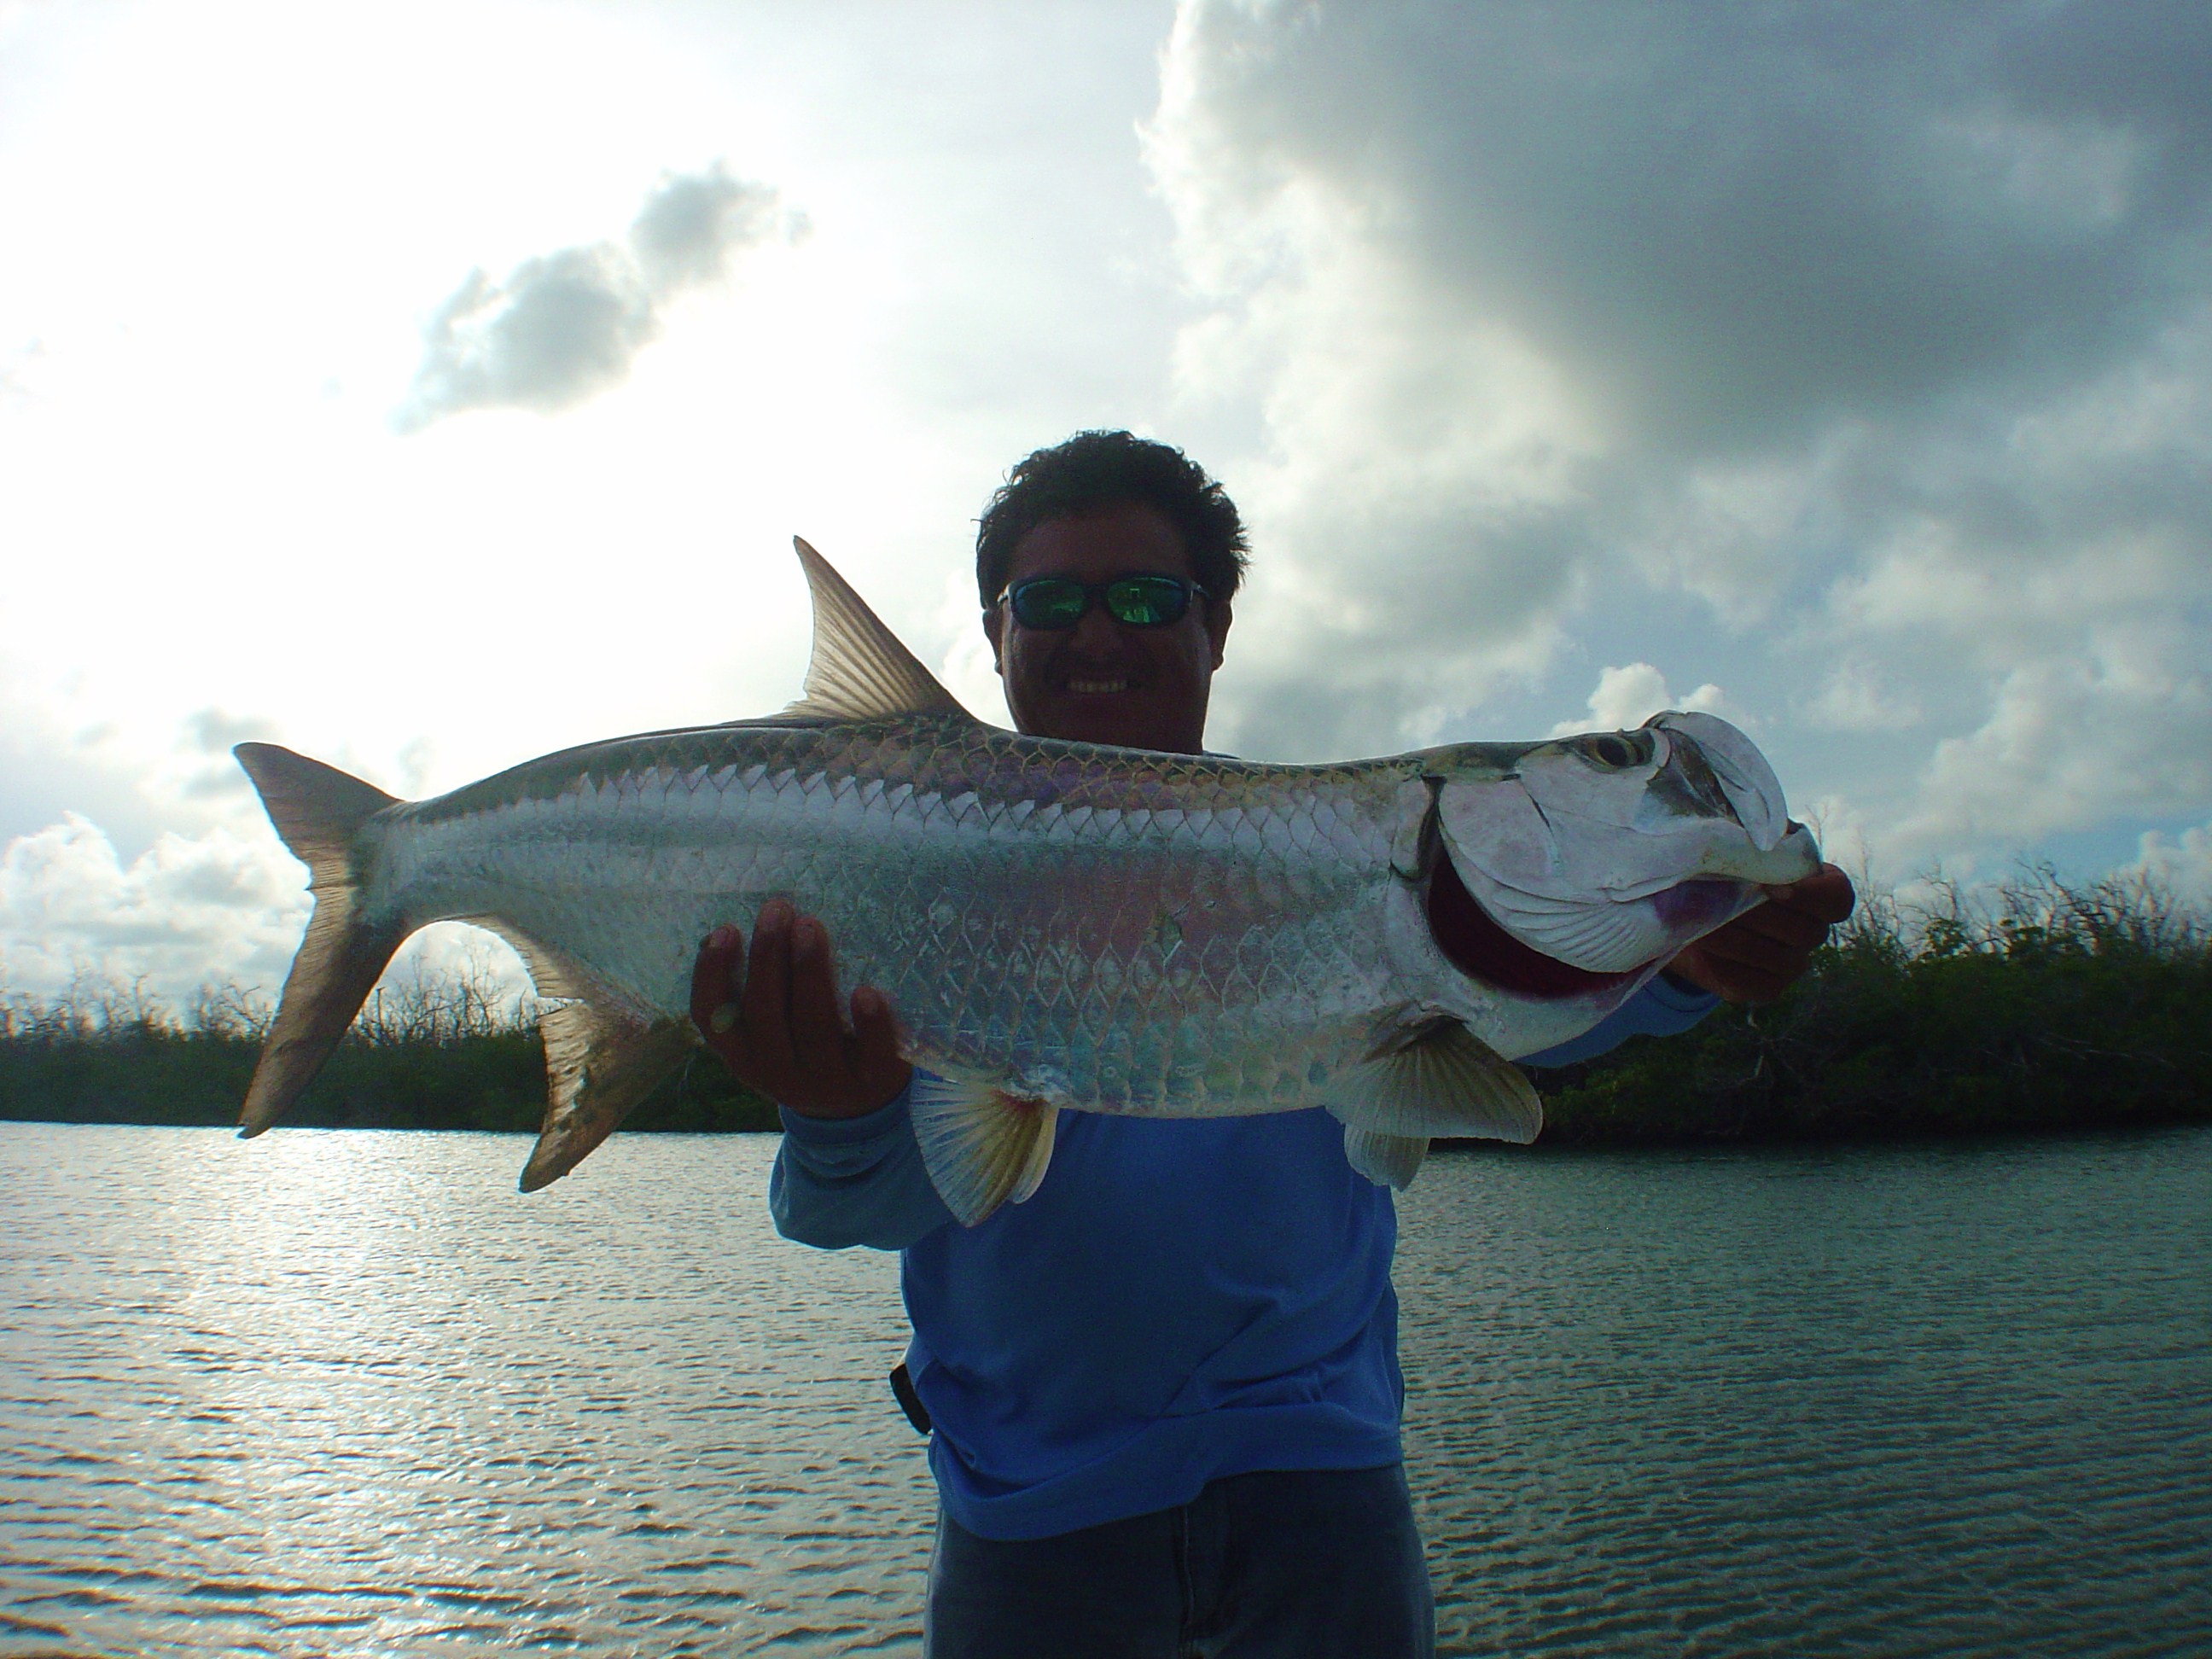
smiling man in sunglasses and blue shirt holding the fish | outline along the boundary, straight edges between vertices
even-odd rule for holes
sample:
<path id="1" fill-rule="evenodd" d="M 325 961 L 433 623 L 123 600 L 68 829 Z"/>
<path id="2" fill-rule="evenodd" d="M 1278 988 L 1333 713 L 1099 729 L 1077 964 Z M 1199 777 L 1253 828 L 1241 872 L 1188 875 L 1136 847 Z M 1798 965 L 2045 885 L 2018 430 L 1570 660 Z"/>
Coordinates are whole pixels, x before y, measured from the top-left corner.
<path id="1" fill-rule="evenodd" d="M 1077 434 L 1013 469 L 975 549 L 1018 730 L 1201 752 L 1243 568 L 1219 484 L 1166 445 Z M 1778 891 L 1540 1062 L 1688 1029 L 1712 993 L 1776 995 L 1849 902 L 1832 869 Z M 816 920 L 768 905 L 750 951 L 717 929 L 692 1018 L 783 1106 L 776 1225 L 902 1252 L 902 1398 L 942 1500 L 933 1659 L 1433 1650 L 1396 1217 L 1327 1113 L 1071 1113 L 1037 1192 L 960 1228 L 914 1144 L 896 1011 L 872 987 L 838 1006 Z"/>

